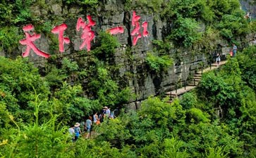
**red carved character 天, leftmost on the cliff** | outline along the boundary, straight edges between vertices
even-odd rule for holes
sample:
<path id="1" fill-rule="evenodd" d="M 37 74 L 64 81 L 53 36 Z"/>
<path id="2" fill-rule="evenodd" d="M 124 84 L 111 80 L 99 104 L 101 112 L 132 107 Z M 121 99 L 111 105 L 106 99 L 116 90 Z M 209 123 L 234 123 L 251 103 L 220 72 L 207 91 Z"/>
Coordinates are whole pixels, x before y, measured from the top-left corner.
<path id="1" fill-rule="evenodd" d="M 22 53 L 23 57 L 27 57 L 30 54 L 30 49 L 32 49 L 37 55 L 42 56 L 44 58 L 49 58 L 50 55 L 48 53 L 45 53 L 44 51 L 40 51 L 33 43 L 33 41 L 41 37 L 41 34 L 33 33 L 32 35 L 30 35 L 28 32 L 32 29 L 34 29 L 33 25 L 26 25 L 25 27 L 23 27 L 23 31 L 25 32 L 26 39 L 20 40 L 20 44 L 27 46 L 25 52 Z"/>

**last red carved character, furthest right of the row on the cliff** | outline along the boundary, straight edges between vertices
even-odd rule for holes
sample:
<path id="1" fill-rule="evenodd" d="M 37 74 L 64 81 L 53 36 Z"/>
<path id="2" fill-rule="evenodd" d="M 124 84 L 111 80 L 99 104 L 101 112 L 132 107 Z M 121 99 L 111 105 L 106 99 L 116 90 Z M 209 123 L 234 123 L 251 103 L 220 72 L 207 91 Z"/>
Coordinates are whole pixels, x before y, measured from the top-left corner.
<path id="1" fill-rule="evenodd" d="M 133 18 L 132 18 L 132 25 L 133 27 L 135 27 L 133 29 L 133 31 L 130 33 L 130 35 L 133 36 L 133 46 L 135 46 L 137 44 L 138 39 L 141 38 L 141 33 L 140 33 L 140 15 L 136 15 L 135 11 L 133 11 Z M 142 36 L 143 37 L 147 37 L 148 36 L 148 32 L 147 32 L 147 22 L 143 22 L 142 24 L 143 27 L 143 32 L 142 32 Z M 137 36 L 136 36 L 137 35 Z"/>

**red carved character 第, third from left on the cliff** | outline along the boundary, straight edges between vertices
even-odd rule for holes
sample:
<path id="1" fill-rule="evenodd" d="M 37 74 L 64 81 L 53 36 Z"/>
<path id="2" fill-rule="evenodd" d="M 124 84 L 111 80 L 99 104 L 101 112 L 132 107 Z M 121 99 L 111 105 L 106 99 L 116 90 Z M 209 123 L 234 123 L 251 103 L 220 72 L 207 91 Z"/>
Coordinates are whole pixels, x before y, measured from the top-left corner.
<path id="1" fill-rule="evenodd" d="M 83 43 L 79 47 L 80 50 L 82 50 L 86 45 L 87 51 L 90 51 L 91 41 L 95 38 L 95 32 L 92 31 L 92 27 L 96 25 L 96 22 L 92 20 L 92 17 L 90 15 L 87 15 L 87 20 L 89 21 L 88 24 L 86 24 L 86 22 L 84 22 L 82 18 L 78 18 L 78 22 L 76 23 L 76 30 L 79 31 L 80 28 L 83 29 L 83 33 L 81 35 Z"/>

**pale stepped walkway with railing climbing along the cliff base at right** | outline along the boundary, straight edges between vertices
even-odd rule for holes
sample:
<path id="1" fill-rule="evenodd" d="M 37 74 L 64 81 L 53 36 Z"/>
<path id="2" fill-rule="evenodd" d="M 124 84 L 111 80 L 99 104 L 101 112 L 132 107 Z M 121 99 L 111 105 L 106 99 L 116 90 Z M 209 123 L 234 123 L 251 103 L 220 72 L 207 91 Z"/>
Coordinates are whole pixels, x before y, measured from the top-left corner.
<path id="1" fill-rule="evenodd" d="M 212 67 L 207 67 L 206 69 L 204 69 L 200 72 L 197 72 L 194 75 L 193 79 L 187 84 L 187 86 L 178 88 L 177 90 L 166 92 L 165 93 L 166 97 L 170 98 L 170 100 L 168 100 L 167 103 L 171 103 L 173 98 L 177 98 L 178 96 L 181 96 L 183 93 L 186 93 L 186 92 L 190 91 L 191 89 L 195 88 L 197 86 L 197 84 L 199 84 L 199 82 L 201 81 L 202 73 L 217 69 L 221 65 L 224 65 L 224 64 L 226 64 L 226 61 L 221 61 L 219 63 L 219 65 L 214 63 L 214 64 L 212 64 Z"/>

